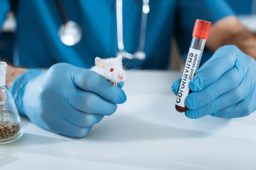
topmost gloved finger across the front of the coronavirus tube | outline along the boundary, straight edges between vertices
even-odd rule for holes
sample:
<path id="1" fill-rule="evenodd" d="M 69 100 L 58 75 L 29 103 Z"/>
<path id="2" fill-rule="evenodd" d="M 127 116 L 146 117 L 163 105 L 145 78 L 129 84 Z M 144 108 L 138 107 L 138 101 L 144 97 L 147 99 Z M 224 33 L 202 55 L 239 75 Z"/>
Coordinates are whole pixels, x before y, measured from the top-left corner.
<path id="1" fill-rule="evenodd" d="M 237 59 L 236 55 L 230 51 L 219 50 L 213 54 L 213 57 L 215 56 L 217 57 L 200 69 L 189 82 L 189 88 L 192 91 L 200 91 L 218 80 L 222 74 L 233 68 Z"/>

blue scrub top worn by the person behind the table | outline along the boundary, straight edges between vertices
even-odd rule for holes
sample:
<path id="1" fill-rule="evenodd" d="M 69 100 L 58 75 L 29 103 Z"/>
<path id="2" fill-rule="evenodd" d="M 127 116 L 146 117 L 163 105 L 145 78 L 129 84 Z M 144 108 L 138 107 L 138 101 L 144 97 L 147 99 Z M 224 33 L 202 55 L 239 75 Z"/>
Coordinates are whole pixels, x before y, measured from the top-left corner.
<path id="1" fill-rule="evenodd" d="M 48 68 L 67 62 L 90 68 L 95 57 L 115 56 L 116 1 L 61 1 L 69 20 L 82 28 L 83 38 L 73 46 L 64 45 L 57 36 L 62 20 L 54 0 L 11 0 L 17 6 L 13 56 L 16 66 Z M 234 14 L 225 0 L 149 0 L 149 7 L 144 49 L 147 57 L 133 62 L 130 68 L 168 68 L 173 37 L 186 57 L 196 19 L 214 24 Z M 10 8 L 9 0 L 0 0 L 0 24 Z M 123 0 L 124 46 L 129 53 L 137 51 L 139 45 L 141 11 L 142 0 Z"/>

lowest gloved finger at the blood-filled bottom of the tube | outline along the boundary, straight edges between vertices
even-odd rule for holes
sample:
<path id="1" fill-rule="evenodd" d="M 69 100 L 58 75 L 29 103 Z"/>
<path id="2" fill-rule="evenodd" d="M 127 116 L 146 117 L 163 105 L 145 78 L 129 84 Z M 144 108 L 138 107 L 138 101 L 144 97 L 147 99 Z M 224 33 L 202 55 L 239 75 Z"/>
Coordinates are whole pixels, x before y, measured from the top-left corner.
<path id="1" fill-rule="evenodd" d="M 244 88 L 244 83 L 240 83 L 237 88 L 217 97 L 214 101 L 194 110 L 186 110 L 185 115 L 191 119 L 201 118 L 220 111 L 221 109 L 235 105 L 241 102 L 247 95 L 248 89 Z"/>

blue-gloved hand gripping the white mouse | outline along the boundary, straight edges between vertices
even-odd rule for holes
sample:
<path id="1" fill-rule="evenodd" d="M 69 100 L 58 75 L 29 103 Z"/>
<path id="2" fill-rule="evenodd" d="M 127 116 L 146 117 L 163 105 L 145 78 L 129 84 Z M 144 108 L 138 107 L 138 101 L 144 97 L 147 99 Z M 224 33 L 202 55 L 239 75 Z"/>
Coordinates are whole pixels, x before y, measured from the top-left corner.
<path id="1" fill-rule="evenodd" d="M 126 101 L 123 83 L 114 86 L 99 74 L 67 63 L 18 77 L 12 95 L 19 113 L 41 128 L 83 137 L 104 116 Z"/>

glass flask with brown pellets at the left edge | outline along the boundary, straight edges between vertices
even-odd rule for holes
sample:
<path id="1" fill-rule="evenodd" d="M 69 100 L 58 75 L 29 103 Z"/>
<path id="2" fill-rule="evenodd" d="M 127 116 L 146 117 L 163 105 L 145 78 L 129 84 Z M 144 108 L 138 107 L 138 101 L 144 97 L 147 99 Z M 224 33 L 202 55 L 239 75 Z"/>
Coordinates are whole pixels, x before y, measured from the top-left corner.
<path id="1" fill-rule="evenodd" d="M 0 62 L 0 144 L 14 142 L 23 135 L 20 116 L 6 85 L 6 62 Z"/>

